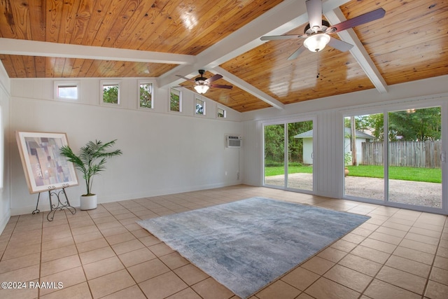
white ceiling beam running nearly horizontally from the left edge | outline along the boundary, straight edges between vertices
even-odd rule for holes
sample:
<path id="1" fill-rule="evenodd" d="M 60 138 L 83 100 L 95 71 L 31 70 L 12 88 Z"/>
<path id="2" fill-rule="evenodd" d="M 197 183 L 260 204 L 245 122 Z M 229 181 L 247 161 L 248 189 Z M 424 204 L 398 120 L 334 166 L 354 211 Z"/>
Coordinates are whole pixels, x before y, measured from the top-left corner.
<path id="1" fill-rule="evenodd" d="M 80 46 L 46 41 L 0 38 L 0 54 L 41 57 L 69 57 L 90 60 L 194 64 L 194 55 L 181 55 L 141 50 Z"/>

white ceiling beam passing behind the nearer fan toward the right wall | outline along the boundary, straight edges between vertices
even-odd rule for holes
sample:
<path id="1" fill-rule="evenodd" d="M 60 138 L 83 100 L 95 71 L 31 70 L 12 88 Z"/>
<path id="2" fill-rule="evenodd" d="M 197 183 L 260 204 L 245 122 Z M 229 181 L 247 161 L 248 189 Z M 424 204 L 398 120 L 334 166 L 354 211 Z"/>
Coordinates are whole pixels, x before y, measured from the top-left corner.
<path id="1" fill-rule="evenodd" d="M 324 13 L 324 15 L 331 25 L 336 25 L 346 20 L 344 13 L 342 13 L 339 8 L 328 11 L 327 13 Z M 356 59 L 361 69 L 363 69 L 366 76 L 370 79 L 375 88 L 377 88 L 378 92 L 381 94 L 386 93 L 386 81 L 381 76 L 381 73 L 377 69 L 377 66 L 370 58 L 369 53 L 367 53 L 367 50 L 365 50 L 363 43 L 360 42 L 353 29 L 346 29 L 342 32 L 337 32 L 337 35 L 340 39 L 342 39 L 342 41 L 351 43 L 353 45 L 353 48 L 351 48 L 350 50 L 351 55 L 353 55 L 353 57 Z"/>

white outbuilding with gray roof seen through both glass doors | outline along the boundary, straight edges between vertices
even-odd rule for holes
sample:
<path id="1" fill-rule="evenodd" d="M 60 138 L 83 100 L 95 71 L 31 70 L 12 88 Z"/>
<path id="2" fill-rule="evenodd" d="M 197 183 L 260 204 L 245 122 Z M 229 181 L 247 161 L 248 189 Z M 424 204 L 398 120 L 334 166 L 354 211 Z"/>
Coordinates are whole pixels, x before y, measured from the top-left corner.
<path id="1" fill-rule="evenodd" d="M 345 128 L 344 153 L 351 151 L 350 146 L 351 130 L 349 127 Z M 313 164 L 313 130 L 297 134 L 294 138 L 303 139 L 303 162 L 304 164 Z M 363 164 L 363 142 L 370 142 L 374 139 L 372 135 L 364 132 L 356 131 L 356 161 L 358 164 Z"/>

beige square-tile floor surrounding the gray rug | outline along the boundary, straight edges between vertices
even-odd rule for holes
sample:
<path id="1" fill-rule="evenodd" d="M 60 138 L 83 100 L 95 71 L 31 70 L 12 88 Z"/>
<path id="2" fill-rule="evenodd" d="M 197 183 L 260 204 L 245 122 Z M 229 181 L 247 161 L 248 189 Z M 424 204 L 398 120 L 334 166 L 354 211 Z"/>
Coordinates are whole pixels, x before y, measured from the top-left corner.
<path id="1" fill-rule="evenodd" d="M 251 186 L 57 211 L 52 222 L 13 216 L 0 236 L 0 281 L 49 284 L 0 298 L 237 298 L 135 221 L 254 196 L 372 218 L 251 299 L 448 298 L 447 216 Z"/>

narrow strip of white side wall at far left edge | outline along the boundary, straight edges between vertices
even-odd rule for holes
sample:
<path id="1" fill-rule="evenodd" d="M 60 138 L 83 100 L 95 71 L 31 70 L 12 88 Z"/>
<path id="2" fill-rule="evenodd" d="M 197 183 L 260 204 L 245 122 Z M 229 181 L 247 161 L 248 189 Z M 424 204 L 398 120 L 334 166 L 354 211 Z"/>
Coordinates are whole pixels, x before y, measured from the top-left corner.
<path id="1" fill-rule="evenodd" d="M 0 233 L 10 218 L 10 179 L 9 179 L 9 104 L 10 80 L 0 62 Z M 3 149 L 3 151 L 2 151 Z"/>

